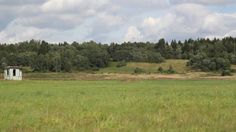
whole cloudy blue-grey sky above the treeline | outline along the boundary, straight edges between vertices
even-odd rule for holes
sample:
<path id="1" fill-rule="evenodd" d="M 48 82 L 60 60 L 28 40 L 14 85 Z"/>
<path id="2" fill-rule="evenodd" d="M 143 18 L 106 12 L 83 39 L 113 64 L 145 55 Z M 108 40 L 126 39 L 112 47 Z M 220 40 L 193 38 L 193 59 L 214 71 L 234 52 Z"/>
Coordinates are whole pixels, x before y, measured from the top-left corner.
<path id="1" fill-rule="evenodd" d="M 0 0 L 0 43 L 236 37 L 236 0 Z"/>

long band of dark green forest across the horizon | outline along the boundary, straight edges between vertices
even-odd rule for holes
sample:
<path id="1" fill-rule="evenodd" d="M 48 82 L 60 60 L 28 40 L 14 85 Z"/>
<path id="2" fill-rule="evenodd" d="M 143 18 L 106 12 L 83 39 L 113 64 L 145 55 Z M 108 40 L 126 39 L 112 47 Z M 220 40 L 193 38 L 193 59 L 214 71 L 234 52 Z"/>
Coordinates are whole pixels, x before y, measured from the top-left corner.
<path id="1" fill-rule="evenodd" d="M 0 69 L 21 66 L 32 72 L 96 71 L 113 61 L 161 63 L 166 59 L 187 59 L 186 65 L 196 70 L 229 72 L 231 64 L 236 64 L 236 38 L 120 44 L 30 40 L 0 44 Z"/>

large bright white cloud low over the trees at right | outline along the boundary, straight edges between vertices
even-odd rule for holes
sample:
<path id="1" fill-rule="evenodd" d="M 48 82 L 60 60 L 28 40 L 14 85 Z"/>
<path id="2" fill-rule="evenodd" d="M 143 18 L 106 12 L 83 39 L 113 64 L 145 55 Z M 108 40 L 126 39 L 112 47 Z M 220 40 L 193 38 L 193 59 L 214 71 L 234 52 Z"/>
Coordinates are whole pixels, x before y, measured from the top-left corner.
<path id="1" fill-rule="evenodd" d="M 181 4 L 161 17 L 147 17 L 135 26 L 145 41 L 158 41 L 160 38 L 183 40 L 235 35 L 232 32 L 236 29 L 235 23 L 236 13 L 215 13 L 198 4 Z"/>

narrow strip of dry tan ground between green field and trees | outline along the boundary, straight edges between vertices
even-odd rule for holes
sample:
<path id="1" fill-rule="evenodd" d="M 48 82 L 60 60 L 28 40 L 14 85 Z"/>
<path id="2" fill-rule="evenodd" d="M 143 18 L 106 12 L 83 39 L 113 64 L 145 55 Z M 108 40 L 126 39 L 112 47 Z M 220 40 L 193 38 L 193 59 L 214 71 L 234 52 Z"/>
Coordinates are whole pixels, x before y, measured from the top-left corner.
<path id="1" fill-rule="evenodd" d="M 37 73 L 33 73 L 37 74 Z M 175 80 L 236 80 L 236 74 L 233 76 L 220 76 L 217 74 L 210 74 L 205 72 L 192 72 L 186 74 L 117 74 L 117 73 L 103 73 L 103 74 L 89 74 L 89 73 L 45 73 L 43 76 L 32 76 L 31 74 L 24 74 L 24 80 L 161 80 L 161 79 L 175 79 Z M 3 76 L 0 75 L 0 80 Z"/>

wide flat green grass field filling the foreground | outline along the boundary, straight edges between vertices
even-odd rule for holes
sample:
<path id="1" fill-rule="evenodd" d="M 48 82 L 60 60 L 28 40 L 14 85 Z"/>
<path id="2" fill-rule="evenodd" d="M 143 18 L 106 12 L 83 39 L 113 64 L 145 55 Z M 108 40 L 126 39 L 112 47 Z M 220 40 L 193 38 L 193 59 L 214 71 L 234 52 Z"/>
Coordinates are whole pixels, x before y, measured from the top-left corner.
<path id="1" fill-rule="evenodd" d="M 235 81 L 0 81 L 0 131 L 236 130 Z"/>

